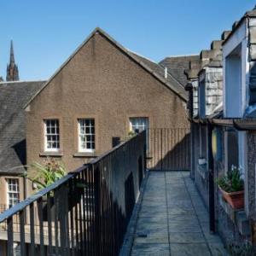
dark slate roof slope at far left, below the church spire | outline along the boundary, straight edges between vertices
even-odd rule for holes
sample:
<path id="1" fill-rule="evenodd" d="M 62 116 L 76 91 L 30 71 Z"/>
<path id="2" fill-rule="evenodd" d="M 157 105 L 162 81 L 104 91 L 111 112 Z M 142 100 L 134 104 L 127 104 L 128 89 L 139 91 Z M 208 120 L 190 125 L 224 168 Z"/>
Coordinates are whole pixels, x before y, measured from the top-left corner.
<path id="1" fill-rule="evenodd" d="M 23 106 L 45 82 L 0 83 L 0 172 L 24 172 L 26 165 Z"/>

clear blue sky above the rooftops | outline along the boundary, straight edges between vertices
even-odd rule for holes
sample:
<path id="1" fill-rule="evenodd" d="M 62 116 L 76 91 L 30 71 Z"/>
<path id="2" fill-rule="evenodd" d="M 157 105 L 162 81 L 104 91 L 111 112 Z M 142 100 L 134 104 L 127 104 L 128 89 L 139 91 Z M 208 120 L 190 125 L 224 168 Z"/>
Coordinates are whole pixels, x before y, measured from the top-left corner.
<path id="1" fill-rule="evenodd" d="M 0 76 L 14 40 L 20 79 L 48 79 L 100 26 L 151 60 L 197 54 L 220 38 L 253 0 L 8 0 L 0 9 Z"/>

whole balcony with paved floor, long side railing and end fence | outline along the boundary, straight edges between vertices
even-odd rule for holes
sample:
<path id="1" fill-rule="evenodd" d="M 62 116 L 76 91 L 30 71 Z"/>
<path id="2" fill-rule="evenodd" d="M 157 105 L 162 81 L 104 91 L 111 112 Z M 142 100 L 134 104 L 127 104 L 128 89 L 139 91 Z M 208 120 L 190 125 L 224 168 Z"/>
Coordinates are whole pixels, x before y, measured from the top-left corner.
<path id="1" fill-rule="evenodd" d="M 214 255 L 210 247 L 221 242 L 204 238 L 207 211 L 189 183 L 189 143 L 187 129 L 143 131 L 4 211 L 3 255 L 169 255 L 172 243 Z M 195 212 L 192 198 L 205 212 Z"/>

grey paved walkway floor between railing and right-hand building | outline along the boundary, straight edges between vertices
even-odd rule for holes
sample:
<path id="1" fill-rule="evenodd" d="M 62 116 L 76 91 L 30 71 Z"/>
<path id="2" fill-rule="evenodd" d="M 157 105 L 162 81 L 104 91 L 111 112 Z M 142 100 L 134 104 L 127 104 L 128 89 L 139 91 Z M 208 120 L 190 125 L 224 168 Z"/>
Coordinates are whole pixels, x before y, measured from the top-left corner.
<path id="1" fill-rule="evenodd" d="M 131 255 L 227 255 L 189 172 L 149 172 Z"/>

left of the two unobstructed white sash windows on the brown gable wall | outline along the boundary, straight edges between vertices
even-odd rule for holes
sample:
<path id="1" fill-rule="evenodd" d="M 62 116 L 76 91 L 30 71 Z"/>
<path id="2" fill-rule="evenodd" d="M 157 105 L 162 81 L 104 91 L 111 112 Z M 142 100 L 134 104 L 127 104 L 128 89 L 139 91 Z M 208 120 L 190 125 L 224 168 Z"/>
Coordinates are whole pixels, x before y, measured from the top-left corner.
<path id="1" fill-rule="evenodd" d="M 60 150 L 60 125 L 58 119 L 44 120 L 44 150 Z"/>

